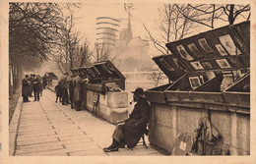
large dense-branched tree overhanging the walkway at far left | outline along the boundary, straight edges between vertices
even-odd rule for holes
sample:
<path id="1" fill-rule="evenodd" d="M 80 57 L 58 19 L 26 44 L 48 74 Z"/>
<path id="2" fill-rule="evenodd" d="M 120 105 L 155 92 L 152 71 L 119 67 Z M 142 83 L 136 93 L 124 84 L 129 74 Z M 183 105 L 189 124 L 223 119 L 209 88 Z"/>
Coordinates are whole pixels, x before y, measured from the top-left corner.
<path id="1" fill-rule="evenodd" d="M 60 44 L 62 12 L 55 3 L 9 4 L 9 59 L 14 88 L 21 81 L 16 70 L 38 68 Z M 21 74 L 19 74 L 21 75 Z"/>

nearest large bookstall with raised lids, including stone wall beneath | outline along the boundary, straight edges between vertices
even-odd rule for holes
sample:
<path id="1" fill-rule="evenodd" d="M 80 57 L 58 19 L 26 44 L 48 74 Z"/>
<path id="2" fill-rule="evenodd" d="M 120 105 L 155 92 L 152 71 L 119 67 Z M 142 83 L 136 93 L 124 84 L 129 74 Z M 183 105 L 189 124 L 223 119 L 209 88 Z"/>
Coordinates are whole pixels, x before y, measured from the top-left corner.
<path id="1" fill-rule="evenodd" d="M 178 134 L 195 135 L 208 118 L 231 155 L 250 154 L 250 23 L 166 43 L 153 58 L 169 83 L 146 91 L 149 140 L 171 153 Z M 211 155 L 204 152 L 203 155 Z"/>

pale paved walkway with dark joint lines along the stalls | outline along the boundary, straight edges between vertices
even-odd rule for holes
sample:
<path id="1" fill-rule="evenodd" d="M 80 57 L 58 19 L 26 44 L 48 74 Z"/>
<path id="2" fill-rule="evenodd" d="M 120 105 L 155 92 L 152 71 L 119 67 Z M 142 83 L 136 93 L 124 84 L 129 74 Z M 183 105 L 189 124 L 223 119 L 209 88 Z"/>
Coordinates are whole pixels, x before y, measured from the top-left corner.
<path id="1" fill-rule="evenodd" d="M 163 155 L 147 143 L 133 150 L 120 148 L 105 153 L 115 126 L 93 116 L 75 111 L 70 105 L 55 103 L 55 93 L 43 90 L 40 101 L 18 102 L 10 124 L 10 155 L 15 156 L 156 156 Z M 20 107 L 19 107 L 20 106 Z M 148 140 L 148 138 L 146 138 Z"/>

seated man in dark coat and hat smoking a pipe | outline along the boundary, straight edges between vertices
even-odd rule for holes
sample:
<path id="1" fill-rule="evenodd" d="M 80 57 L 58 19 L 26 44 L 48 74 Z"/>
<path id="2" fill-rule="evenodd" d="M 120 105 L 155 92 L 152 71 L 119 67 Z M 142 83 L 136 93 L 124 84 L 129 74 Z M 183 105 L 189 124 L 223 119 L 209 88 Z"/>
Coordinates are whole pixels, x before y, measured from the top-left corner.
<path id="1" fill-rule="evenodd" d="M 128 148 L 133 148 L 145 133 L 150 117 L 150 105 L 142 88 L 138 87 L 132 93 L 134 101 L 137 102 L 134 110 L 127 120 L 117 122 L 112 144 L 103 148 L 105 152 L 118 151 L 118 148 L 124 148 L 125 144 Z"/>

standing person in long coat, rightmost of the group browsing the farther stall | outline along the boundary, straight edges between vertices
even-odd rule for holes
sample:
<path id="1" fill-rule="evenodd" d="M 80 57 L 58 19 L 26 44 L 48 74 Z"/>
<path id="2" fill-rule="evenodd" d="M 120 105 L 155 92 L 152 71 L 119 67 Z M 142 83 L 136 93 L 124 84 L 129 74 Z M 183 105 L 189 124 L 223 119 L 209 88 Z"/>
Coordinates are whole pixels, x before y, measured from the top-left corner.
<path id="1" fill-rule="evenodd" d="M 79 74 L 76 74 L 76 77 L 73 80 L 74 85 L 74 103 L 76 111 L 81 111 L 81 104 L 83 100 L 83 83 L 88 82 L 87 79 L 82 80 Z"/>

